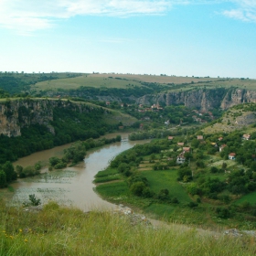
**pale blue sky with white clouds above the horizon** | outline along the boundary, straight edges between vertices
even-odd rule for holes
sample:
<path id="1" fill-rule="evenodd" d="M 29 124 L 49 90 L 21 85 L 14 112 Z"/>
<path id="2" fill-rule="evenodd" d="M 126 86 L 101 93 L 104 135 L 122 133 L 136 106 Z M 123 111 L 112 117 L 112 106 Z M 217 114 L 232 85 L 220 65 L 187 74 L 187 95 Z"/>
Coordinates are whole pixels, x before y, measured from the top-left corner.
<path id="1" fill-rule="evenodd" d="M 256 0 L 0 0 L 0 71 L 256 79 Z"/>

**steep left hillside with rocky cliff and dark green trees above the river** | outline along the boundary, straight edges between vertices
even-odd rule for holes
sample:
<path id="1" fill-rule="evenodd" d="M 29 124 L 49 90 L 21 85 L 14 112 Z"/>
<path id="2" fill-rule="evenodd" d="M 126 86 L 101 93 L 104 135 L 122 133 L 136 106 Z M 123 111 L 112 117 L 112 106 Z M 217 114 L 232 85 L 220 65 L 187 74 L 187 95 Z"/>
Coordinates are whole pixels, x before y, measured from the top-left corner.
<path id="1" fill-rule="evenodd" d="M 136 119 L 90 102 L 18 98 L 0 101 L 0 163 L 78 140 L 98 138 Z"/>

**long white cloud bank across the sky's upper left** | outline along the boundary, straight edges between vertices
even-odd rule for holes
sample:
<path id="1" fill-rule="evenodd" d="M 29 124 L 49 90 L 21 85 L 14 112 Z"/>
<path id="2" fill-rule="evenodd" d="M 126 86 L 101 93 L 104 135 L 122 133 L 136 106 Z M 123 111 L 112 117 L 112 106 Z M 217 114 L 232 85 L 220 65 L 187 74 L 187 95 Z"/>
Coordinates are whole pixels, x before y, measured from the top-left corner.
<path id="1" fill-rule="evenodd" d="M 171 3 L 168 0 L 0 0 L 0 26 L 30 33 L 71 16 L 160 15 Z"/>

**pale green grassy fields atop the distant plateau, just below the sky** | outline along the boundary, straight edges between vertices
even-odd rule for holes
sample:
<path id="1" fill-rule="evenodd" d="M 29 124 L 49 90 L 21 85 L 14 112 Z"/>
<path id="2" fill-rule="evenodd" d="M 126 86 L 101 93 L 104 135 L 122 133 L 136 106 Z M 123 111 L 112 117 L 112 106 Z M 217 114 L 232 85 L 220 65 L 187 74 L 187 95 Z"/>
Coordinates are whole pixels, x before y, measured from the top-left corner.
<path id="1" fill-rule="evenodd" d="M 110 78 L 112 77 L 112 78 Z M 118 78 L 118 79 L 116 79 Z M 121 79 L 121 80 L 120 80 Z M 191 82 L 194 84 L 189 84 Z M 95 88 L 130 88 L 131 85 L 141 86 L 141 82 L 153 82 L 159 84 L 169 84 L 172 91 L 172 84 L 183 84 L 182 88 L 175 91 L 187 91 L 199 88 L 215 89 L 218 87 L 255 90 L 256 80 L 230 79 L 222 80 L 216 78 L 191 78 L 191 77 L 171 77 L 171 76 L 150 76 L 150 75 L 127 75 L 127 74 L 83 74 L 77 78 L 47 80 L 38 82 L 33 89 L 36 91 L 57 89 L 78 89 L 80 86 Z M 200 83 L 198 83 L 200 82 Z"/>

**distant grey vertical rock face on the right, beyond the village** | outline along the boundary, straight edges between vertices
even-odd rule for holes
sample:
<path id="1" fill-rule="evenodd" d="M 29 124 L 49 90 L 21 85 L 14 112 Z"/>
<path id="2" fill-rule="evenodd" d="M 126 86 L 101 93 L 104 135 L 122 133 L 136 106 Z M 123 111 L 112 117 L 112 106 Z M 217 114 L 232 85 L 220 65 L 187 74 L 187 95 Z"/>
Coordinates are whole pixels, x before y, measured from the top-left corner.
<path id="1" fill-rule="evenodd" d="M 188 108 L 201 111 L 209 111 L 213 108 L 227 110 L 241 103 L 256 102 L 256 91 L 224 88 L 175 91 L 156 96 L 144 95 L 136 102 L 145 105 L 159 102 L 166 106 L 184 104 Z"/>

